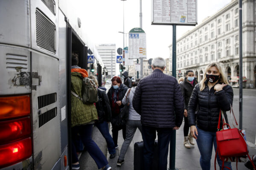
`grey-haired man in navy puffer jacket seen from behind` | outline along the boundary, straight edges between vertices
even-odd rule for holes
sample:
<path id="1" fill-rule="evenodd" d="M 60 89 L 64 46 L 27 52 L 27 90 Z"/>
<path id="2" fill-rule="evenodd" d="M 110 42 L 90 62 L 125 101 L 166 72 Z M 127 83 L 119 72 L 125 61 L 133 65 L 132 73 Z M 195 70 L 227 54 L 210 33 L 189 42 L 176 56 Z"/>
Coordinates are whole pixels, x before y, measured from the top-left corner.
<path id="1" fill-rule="evenodd" d="M 151 68 L 152 74 L 138 83 L 132 104 L 141 115 L 144 169 L 151 169 L 157 131 L 158 170 L 166 170 L 172 130 L 178 130 L 183 120 L 183 96 L 177 79 L 163 73 L 165 59 L 154 58 Z"/>

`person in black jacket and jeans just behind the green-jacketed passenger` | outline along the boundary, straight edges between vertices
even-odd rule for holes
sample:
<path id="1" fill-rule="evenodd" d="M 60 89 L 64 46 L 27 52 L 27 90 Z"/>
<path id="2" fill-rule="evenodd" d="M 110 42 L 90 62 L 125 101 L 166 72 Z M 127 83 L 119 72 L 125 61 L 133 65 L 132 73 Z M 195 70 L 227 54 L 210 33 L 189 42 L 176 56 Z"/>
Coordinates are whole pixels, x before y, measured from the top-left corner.
<path id="1" fill-rule="evenodd" d="M 94 76 L 89 76 L 89 78 L 94 80 L 97 87 L 99 86 L 98 81 Z M 111 107 L 106 92 L 100 88 L 97 88 L 97 90 L 99 101 L 96 102 L 96 109 L 99 120 L 95 121 L 94 125 L 98 127 L 100 133 L 105 138 L 108 146 L 108 153 L 110 154 L 109 158 L 113 159 L 116 156 L 116 148 L 108 128 L 108 123 L 111 121 Z"/>

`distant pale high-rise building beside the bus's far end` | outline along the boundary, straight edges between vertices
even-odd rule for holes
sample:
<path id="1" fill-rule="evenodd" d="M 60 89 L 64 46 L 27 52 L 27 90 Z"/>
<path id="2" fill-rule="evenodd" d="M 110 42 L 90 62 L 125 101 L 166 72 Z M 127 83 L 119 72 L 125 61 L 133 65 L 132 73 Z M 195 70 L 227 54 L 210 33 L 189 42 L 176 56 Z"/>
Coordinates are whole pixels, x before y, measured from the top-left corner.
<path id="1" fill-rule="evenodd" d="M 112 78 L 116 75 L 116 44 L 96 45 L 96 49 L 98 50 L 98 53 L 102 58 L 102 62 L 106 67 L 105 71 L 108 72 L 108 76 L 106 78 Z"/>

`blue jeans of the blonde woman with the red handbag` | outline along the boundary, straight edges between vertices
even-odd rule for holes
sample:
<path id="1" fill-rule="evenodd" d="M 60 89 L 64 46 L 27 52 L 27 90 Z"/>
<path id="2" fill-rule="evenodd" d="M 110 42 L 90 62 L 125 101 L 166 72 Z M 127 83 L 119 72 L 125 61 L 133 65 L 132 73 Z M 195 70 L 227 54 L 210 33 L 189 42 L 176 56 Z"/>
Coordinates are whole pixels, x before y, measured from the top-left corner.
<path id="1" fill-rule="evenodd" d="M 211 158 L 212 158 L 212 145 L 214 145 L 214 149 L 216 152 L 217 143 L 216 143 L 216 132 L 209 132 L 202 129 L 198 130 L 198 136 L 197 136 L 197 144 L 198 149 L 200 151 L 200 165 L 202 170 L 210 170 L 211 169 Z M 215 156 L 214 156 L 215 157 Z M 221 170 L 222 161 L 217 156 L 218 165 Z M 231 162 L 224 162 L 224 167 L 229 167 L 230 170 L 232 170 Z M 227 168 L 224 168 L 224 170 L 228 170 Z"/>

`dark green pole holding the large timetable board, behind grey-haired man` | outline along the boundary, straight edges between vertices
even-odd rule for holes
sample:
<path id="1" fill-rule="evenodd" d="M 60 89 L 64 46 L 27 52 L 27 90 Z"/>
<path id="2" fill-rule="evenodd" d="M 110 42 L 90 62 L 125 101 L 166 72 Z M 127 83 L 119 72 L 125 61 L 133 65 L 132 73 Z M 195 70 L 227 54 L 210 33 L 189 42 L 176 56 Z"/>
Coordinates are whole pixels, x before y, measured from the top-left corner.
<path id="1" fill-rule="evenodd" d="M 172 76 L 176 78 L 176 25 L 172 26 Z M 176 130 L 172 130 L 170 140 L 170 163 L 169 170 L 177 170 L 175 168 L 175 147 L 176 147 Z"/>

